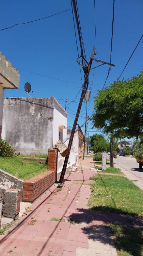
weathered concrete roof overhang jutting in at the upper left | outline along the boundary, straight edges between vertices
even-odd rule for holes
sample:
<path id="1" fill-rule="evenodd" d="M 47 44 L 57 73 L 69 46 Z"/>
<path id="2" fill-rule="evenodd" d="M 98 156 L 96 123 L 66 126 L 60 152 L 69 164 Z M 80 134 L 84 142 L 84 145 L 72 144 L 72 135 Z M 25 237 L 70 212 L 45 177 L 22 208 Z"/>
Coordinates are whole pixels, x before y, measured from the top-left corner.
<path id="1" fill-rule="evenodd" d="M 4 88 L 19 88 L 19 72 L 1 52 L 0 82 Z"/>

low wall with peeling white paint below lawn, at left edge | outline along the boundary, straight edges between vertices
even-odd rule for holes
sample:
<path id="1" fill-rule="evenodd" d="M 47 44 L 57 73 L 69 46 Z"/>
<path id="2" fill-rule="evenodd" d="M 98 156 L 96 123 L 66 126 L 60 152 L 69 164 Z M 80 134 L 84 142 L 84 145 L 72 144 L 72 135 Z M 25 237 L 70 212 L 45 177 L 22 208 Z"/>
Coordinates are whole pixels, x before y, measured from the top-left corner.
<path id="1" fill-rule="evenodd" d="M 23 194 L 23 184 L 24 181 L 20 180 L 7 172 L 0 170 L 0 184 L 5 188 L 15 188 L 21 190 L 21 200 Z"/>

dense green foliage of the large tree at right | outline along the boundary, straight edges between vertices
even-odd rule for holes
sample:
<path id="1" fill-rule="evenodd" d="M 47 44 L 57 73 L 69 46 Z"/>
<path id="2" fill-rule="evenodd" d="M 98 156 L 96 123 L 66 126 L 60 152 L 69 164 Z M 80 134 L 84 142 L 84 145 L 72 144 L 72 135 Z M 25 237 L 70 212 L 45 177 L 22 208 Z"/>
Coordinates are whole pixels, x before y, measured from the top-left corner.
<path id="1" fill-rule="evenodd" d="M 143 72 L 98 91 L 92 115 L 93 126 L 114 137 L 131 138 L 143 132 Z"/>

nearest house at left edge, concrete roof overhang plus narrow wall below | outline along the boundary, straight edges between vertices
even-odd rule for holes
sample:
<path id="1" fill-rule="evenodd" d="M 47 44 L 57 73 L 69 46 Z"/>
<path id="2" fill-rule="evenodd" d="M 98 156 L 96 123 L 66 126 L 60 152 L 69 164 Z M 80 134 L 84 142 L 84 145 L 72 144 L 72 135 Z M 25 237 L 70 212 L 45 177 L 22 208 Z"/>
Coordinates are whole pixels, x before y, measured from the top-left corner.
<path id="1" fill-rule="evenodd" d="M 0 52 L 0 139 L 2 132 L 4 89 L 19 88 L 19 72 Z"/>

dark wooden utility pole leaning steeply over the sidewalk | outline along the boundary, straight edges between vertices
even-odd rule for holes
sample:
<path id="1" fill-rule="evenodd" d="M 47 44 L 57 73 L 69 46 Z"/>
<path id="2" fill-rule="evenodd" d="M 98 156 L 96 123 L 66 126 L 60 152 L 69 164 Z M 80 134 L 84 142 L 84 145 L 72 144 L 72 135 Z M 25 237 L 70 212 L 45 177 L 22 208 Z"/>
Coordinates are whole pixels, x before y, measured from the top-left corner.
<path id="1" fill-rule="evenodd" d="M 80 101 L 79 101 L 79 104 L 78 104 L 76 116 L 75 116 L 75 119 L 74 119 L 73 127 L 72 127 L 72 130 L 71 130 L 71 136 L 70 136 L 69 144 L 68 144 L 68 147 L 69 147 L 70 150 L 71 150 L 71 145 L 72 145 L 72 141 L 73 141 L 73 137 L 74 137 L 74 133 L 75 133 L 78 117 L 79 117 L 79 114 L 80 114 L 82 102 L 83 102 L 83 99 L 84 99 L 84 96 L 85 96 L 85 90 L 86 90 L 86 86 L 87 86 L 87 83 L 88 83 L 88 76 L 89 76 L 89 72 L 90 72 L 90 69 L 91 69 L 94 53 L 95 53 L 95 47 L 93 47 L 93 49 L 92 49 L 92 53 L 91 53 L 91 57 L 90 57 L 90 60 L 89 60 L 89 64 L 87 66 L 87 74 L 85 74 L 85 80 L 84 80 L 84 84 L 83 84 L 83 88 L 82 88 L 82 93 L 81 93 Z M 67 168 L 67 164 L 68 164 L 68 160 L 69 160 L 69 155 L 70 155 L 70 153 L 65 157 L 59 182 L 62 182 L 63 179 L 64 179 L 66 168 Z"/>

